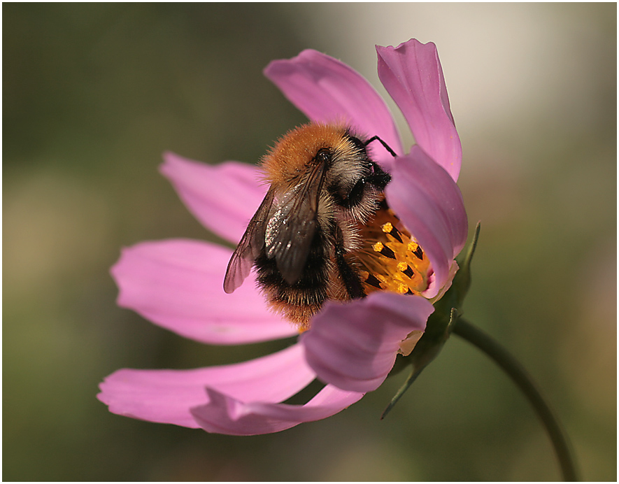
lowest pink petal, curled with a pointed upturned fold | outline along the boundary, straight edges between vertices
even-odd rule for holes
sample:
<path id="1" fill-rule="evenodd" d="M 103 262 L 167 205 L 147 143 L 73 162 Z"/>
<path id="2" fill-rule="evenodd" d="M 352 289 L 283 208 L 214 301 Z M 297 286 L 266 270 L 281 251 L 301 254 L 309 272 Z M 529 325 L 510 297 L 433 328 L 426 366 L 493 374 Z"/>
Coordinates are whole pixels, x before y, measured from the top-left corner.
<path id="1" fill-rule="evenodd" d="M 363 393 L 345 392 L 332 385 L 324 387 L 305 405 L 244 403 L 227 394 L 208 389 L 211 400 L 192 408 L 192 415 L 207 432 L 229 435 L 271 434 L 303 422 L 330 417 L 354 404 Z"/>

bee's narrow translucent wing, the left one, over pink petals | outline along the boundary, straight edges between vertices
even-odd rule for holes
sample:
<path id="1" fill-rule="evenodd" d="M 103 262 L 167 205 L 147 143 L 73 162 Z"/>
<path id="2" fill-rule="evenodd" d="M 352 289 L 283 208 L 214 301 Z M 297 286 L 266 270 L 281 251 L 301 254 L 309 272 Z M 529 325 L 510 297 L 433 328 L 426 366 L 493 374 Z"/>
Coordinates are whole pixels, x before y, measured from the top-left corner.
<path id="1" fill-rule="evenodd" d="M 256 258 L 264 247 L 266 220 L 269 218 L 273 199 L 274 192 L 271 188 L 269 192 L 266 192 L 262 204 L 258 207 L 252 220 L 249 221 L 239 245 L 236 245 L 236 249 L 234 249 L 224 279 L 224 291 L 228 294 L 231 294 L 243 284 L 243 280 L 249 275 Z"/>

